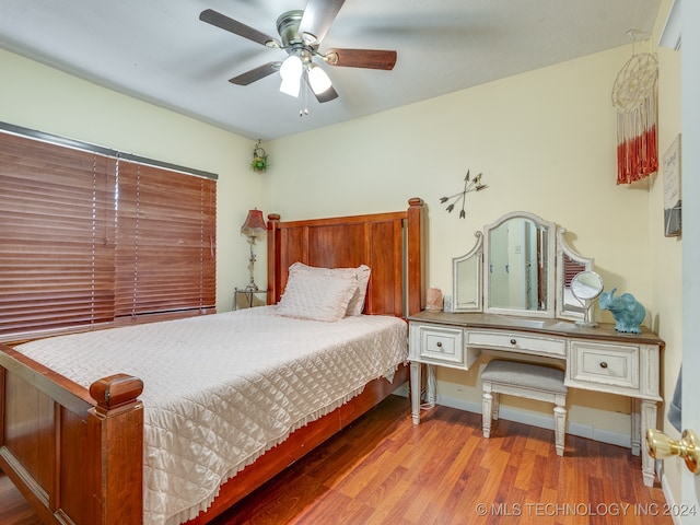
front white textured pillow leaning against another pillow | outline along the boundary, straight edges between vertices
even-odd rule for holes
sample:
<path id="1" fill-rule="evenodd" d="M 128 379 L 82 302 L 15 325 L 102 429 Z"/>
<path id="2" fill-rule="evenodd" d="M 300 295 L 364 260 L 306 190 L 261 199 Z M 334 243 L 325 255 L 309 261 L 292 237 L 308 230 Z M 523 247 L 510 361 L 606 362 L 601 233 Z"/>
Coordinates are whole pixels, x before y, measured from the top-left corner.
<path id="1" fill-rule="evenodd" d="M 277 313 L 285 317 L 332 323 L 346 316 L 358 289 L 352 276 L 290 272 Z"/>

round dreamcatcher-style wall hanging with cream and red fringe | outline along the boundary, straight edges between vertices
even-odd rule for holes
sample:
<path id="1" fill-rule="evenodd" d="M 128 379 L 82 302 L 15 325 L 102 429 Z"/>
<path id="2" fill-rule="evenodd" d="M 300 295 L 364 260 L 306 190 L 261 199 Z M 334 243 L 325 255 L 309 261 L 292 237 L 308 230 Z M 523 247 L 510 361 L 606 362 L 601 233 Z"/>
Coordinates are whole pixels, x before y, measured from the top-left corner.
<path id="1" fill-rule="evenodd" d="M 656 107 L 658 62 L 651 52 L 635 52 L 639 35 L 632 39 L 632 58 L 620 70 L 612 86 L 617 109 L 617 184 L 631 184 L 658 168 Z"/>

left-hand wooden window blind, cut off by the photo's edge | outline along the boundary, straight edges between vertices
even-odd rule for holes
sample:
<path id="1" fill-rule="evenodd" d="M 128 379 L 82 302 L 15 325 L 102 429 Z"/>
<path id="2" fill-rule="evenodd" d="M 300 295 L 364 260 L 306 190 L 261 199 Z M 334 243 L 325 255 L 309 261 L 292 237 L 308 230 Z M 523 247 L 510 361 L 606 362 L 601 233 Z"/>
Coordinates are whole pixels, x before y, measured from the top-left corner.
<path id="1" fill-rule="evenodd" d="M 112 320 L 114 160 L 0 139 L 0 334 Z"/>

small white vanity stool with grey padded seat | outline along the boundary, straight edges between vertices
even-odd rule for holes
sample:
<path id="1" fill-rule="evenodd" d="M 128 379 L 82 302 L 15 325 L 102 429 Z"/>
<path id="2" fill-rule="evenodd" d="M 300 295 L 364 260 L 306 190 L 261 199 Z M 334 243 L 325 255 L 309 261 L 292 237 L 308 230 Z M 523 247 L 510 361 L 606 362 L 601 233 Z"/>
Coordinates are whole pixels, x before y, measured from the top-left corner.
<path id="1" fill-rule="evenodd" d="M 564 455 L 567 387 L 562 370 L 495 359 L 481 372 L 481 382 L 485 438 L 489 438 L 491 433 L 491 419 L 499 419 L 499 394 L 553 402 L 557 455 Z"/>

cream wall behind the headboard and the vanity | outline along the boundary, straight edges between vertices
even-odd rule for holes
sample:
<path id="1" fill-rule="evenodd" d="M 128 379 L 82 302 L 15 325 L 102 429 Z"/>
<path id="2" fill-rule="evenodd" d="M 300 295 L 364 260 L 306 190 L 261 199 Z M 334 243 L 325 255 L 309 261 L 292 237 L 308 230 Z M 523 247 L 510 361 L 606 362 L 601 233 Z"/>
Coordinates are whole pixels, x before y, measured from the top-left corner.
<path id="1" fill-rule="evenodd" d="M 275 141 L 271 209 L 299 219 L 402 209 L 408 198 L 421 197 L 429 206 L 429 284 L 443 291 L 451 287 L 451 259 L 471 247 L 475 230 L 509 211 L 532 211 L 564 226 L 574 249 L 595 257 L 607 289 L 632 292 L 646 305 L 649 326 L 657 318 L 650 261 L 654 182 L 616 184 L 610 93 L 630 56 L 626 46 Z M 460 220 L 440 197 L 459 191 L 467 170 L 482 172 L 489 188 L 467 196 Z M 597 315 L 611 320 L 607 312 Z M 478 368 L 439 370 L 439 397 L 479 411 L 478 376 Z M 629 443 L 628 399 L 585 390 L 570 399 L 572 432 Z"/>

